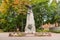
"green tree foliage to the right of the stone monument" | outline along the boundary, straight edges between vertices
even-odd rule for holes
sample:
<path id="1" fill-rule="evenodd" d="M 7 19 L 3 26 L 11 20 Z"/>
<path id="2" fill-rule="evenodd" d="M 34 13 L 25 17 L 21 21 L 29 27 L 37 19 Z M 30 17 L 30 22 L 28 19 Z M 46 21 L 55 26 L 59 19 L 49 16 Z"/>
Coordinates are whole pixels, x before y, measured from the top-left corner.
<path id="1" fill-rule="evenodd" d="M 48 6 L 48 1 L 35 4 L 33 11 L 36 27 L 39 28 L 42 24 L 45 23 L 55 23 L 58 19 L 60 19 L 58 17 L 59 14 L 57 12 L 57 8 L 56 1 L 53 1 L 50 6 Z"/>

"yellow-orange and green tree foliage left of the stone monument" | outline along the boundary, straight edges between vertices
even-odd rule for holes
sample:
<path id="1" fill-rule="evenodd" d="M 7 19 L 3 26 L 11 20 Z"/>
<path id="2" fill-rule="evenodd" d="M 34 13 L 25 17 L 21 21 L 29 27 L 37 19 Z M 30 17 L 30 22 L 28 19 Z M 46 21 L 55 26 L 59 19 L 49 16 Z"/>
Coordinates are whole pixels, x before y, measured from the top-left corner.
<path id="1" fill-rule="evenodd" d="M 24 0 L 3 0 L 0 6 L 0 28 L 4 31 L 14 31 L 13 29 L 16 30 L 26 23 L 23 22 L 27 13 L 24 2 Z"/>

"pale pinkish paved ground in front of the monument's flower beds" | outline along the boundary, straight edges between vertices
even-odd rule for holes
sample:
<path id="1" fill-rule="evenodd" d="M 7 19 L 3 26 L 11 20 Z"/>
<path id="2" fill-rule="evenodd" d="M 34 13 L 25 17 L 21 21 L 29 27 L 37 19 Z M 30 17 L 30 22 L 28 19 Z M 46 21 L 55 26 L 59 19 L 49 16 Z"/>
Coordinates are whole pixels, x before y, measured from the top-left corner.
<path id="1" fill-rule="evenodd" d="M 60 34 L 52 33 L 52 36 L 48 37 L 9 37 L 9 33 L 0 33 L 0 40 L 60 40 Z"/>

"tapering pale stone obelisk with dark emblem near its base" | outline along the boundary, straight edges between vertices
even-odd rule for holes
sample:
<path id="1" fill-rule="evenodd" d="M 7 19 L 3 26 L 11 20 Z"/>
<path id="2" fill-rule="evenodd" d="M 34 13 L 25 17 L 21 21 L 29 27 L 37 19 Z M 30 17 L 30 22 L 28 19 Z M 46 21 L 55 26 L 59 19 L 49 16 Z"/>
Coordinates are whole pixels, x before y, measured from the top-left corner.
<path id="1" fill-rule="evenodd" d="M 35 31 L 36 29 L 35 29 L 35 22 L 34 22 L 34 15 L 32 12 L 32 7 L 28 6 L 25 33 L 35 33 Z"/>

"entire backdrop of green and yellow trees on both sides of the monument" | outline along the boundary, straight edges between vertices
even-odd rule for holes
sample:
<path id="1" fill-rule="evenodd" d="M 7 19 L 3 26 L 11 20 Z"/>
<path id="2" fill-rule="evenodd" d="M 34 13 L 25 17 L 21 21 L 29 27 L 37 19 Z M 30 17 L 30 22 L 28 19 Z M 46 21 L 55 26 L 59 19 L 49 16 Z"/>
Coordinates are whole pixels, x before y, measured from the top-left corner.
<path id="1" fill-rule="evenodd" d="M 26 5 L 32 5 L 35 25 L 38 29 L 43 23 L 54 23 L 60 19 L 60 4 L 53 1 L 48 6 L 49 0 L 0 0 L 0 28 L 4 31 L 24 31 L 26 25 Z"/>

